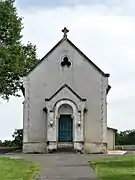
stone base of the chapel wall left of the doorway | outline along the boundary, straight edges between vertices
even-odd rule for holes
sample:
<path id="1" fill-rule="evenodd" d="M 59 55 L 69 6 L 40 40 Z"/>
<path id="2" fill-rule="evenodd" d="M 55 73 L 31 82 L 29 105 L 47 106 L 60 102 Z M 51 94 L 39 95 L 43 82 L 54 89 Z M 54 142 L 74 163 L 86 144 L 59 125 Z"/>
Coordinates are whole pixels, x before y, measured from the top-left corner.
<path id="1" fill-rule="evenodd" d="M 23 144 L 23 153 L 46 153 L 46 144 L 42 142 L 32 142 Z"/>

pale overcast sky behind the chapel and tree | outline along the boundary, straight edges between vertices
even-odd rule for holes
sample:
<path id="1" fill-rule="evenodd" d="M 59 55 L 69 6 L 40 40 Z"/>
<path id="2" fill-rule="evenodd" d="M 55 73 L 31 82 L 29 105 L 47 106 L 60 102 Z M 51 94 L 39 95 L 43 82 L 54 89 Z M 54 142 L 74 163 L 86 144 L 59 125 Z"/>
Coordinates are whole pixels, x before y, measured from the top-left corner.
<path id="1" fill-rule="evenodd" d="M 18 0 L 24 17 L 23 43 L 37 45 L 41 58 L 61 38 L 69 39 L 105 73 L 112 86 L 108 95 L 108 125 L 135 129 L 135 1 L 134 0 Z M 0 139 L 22 128 L 21 98 L 0 100 Z"/>

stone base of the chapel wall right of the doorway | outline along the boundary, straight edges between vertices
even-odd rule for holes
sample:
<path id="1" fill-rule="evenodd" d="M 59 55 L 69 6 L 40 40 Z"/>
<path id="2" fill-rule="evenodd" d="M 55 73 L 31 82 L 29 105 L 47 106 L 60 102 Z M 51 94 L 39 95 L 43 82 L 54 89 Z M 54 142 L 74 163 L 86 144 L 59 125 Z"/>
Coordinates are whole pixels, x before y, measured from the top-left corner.
<path id="1" fill-rule="evenodd" d="M 105 143 L 84 143 L 84 151 L 85 153 L 107 153 L 107 148 Z"/>

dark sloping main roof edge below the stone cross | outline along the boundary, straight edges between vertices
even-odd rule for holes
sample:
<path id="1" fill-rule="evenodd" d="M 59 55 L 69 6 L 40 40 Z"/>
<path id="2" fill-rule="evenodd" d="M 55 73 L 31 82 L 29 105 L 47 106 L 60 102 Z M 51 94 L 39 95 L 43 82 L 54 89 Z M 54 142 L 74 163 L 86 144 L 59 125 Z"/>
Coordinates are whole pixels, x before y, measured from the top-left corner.
<path id="1" fill-rule="evenodd" d="M 96 66 L 80 49 L 78 49 L 67 37 L 63 37 L 29 72 L 33 71 L 42 61 L 47 58 L 63 41 L 67 41 L 76 51 L 83 56 L 100 74 L 104 77 L 109 77 L 110 74 L 104 73 L 98 66 Z M 27 75 L 28 75 L 27 74 Z"/>

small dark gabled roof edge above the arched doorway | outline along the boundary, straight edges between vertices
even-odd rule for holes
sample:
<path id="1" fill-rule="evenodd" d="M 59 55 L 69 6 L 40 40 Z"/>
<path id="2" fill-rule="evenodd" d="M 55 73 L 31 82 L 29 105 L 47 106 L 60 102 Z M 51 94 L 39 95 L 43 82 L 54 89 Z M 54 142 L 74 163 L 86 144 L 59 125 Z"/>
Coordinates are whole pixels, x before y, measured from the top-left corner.
<path id="1" fill-rule="evenodd" d="M 55 97 L 62 89 L 67 88 L 69 89 L 76 97 L 78 97 L 78 99 L 80 99 L 81 101 L 86 101 L 86 99 L 82 98 L 81 96 L 79 96 L 70 86 L 68 86 L 67 84 L 64 84 L 63 86 L 61 86 L 60 89 L 58 89 L 50 98 L 46 98 L 45 101 L 50 101 L 53 97 Z"/>

